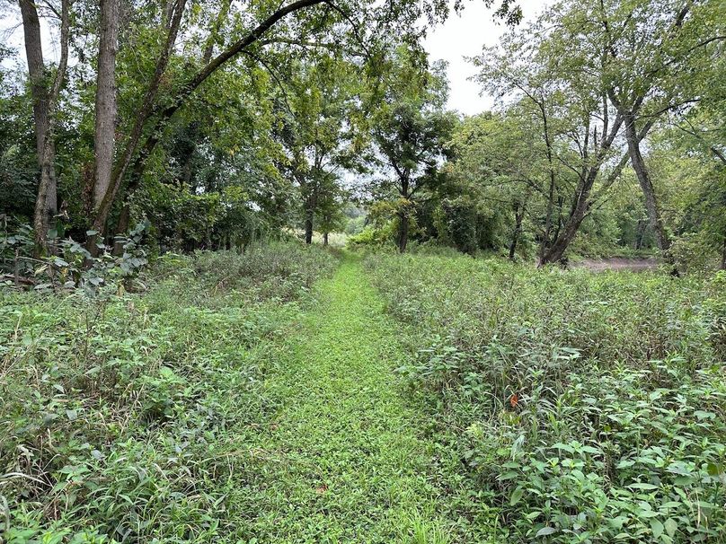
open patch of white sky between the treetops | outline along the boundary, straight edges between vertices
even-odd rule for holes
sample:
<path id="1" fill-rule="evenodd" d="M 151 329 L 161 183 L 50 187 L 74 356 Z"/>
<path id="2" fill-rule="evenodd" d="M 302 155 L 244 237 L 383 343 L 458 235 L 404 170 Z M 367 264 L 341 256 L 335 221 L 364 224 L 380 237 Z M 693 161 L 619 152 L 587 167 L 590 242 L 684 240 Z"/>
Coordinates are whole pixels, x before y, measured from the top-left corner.
<path id="1" fill-rule="evenodd" d="M 531 21 L 553 4 L 554 0 L 520 0 L 525 20 Z M 453 2 L 452 2 L 453 4 Z M 468 81 L 476 74 L 474 66 L 464 57 L 475 57 L 483 46 L 496 45 L 500 36 L 507 31 L 502 23 L 493 20 L 491 9 L 484 7 L 483 0 L 465 3 L 461 15 L 453 12 L 443 25 L 429 30 L 424 47 L 431 61 L 443 59 L 448 62 L 449 98 L 448 108 L 466 115 L 490 110 L 494 103 L 491 96 L 480 96 L 477 83 Z"/>

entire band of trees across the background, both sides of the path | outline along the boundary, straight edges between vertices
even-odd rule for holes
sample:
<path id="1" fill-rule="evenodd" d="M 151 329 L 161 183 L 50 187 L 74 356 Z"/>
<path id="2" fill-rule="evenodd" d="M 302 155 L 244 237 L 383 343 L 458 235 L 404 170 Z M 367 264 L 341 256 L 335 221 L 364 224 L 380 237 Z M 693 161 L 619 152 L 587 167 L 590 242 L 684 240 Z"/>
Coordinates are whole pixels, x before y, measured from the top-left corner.
<path id="1" fill-rule="evenodd" d="M 444 0 L 6 1 L 25 51 L 0 50 L 5 241 L 32 224 L 36 257 L 97 254 L 147 221 L 162 248 L 309 243 L 354 200 L 354 240 L 401 251 L 726 264 L 726 7 L 567 0 L 518 25 L 487 4 L 512 26 L 473 59 L 500 103 L 462 118 L 421 48 Z"/>

